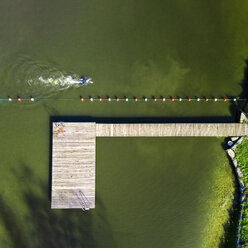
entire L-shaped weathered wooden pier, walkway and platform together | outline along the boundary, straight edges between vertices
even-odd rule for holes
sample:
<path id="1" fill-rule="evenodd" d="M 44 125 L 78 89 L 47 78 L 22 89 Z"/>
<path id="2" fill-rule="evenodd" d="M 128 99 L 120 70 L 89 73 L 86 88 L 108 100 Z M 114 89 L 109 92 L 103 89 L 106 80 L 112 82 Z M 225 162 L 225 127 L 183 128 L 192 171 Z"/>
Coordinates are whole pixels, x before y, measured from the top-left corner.
<path id="1" fill-rule="evenodd" d="M 52 208 L 95 208 L 96 137 L 227 137 L 248 135 L 238 123 L 54 122 Z"/>

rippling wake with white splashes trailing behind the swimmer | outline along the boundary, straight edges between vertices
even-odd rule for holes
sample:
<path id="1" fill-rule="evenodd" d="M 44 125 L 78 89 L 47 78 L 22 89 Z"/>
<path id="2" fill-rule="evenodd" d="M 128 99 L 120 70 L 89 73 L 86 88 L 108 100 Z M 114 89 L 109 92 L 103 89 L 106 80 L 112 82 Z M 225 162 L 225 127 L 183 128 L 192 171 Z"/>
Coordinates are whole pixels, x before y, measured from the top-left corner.
<path id="1" fill-rule="evenodd" d="M 9 69 L 5 91 L 12 96 L 49 97 L 68 88 L 78 88 L 81 75 L 59 71 L 52 65 L 45 65 L 27 57 L 19 57 Z"/>

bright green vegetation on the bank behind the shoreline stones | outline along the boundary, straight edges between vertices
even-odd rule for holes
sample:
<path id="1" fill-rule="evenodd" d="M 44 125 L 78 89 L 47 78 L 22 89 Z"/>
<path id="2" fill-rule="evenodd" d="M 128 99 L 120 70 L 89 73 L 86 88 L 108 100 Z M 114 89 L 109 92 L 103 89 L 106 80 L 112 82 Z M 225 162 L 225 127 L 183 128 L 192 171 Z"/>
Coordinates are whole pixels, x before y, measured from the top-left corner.
<path id="1" fill-rule="evenodd" d="M 237 148 L 235 150 L 236 159 L 238 161 L 238 166 L 241 169 L 244 177 L 243 181 L 245 185 L 248 185 L 248 140 L 244 139 L 244 141 L 237 145 Z M 247 187 L 245 187 L 245 192 L 247 193 Z M 243 218 L 241 221 L 241 233 L 240 238 L 242 241 L 241 247 L 248 247 L 248 202 L 247 198 L 242 204 L 244 206 L 244 209 L 241 210 Z"/>

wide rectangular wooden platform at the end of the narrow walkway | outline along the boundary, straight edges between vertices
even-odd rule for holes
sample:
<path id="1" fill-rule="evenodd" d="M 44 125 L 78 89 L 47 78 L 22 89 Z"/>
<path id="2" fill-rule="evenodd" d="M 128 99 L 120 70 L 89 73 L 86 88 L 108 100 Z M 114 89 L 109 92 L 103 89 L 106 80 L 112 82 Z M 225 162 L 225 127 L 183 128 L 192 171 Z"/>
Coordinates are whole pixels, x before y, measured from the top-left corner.
<path id="1" fill-rule="evenodd" d="M 52 208 L 95 208 L 95 123 L 53 123 Z"/>

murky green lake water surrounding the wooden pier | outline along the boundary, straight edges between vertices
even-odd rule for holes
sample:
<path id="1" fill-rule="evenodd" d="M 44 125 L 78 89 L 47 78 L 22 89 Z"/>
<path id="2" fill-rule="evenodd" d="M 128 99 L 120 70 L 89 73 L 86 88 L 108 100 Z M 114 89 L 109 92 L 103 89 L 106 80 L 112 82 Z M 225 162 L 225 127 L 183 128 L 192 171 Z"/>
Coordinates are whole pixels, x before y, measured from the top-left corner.
<path id="1" fill-rule="evenodd" d="M 248 3 L 0 2 L 0 97 L 238 96 Z M 89 75 L 81 88 L 58 75 Z M 46 78 L 45 82 L 39 77 Z M 218 247 L 224 138 L 97 138 L 96 209 L 51 210 L 50 117 L 234 121 L 229 103 L 1 102 L 0 247 Z"/>

